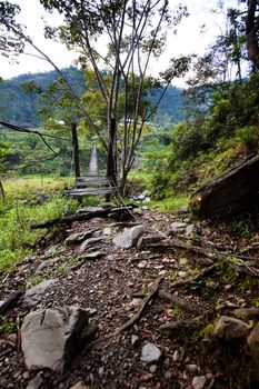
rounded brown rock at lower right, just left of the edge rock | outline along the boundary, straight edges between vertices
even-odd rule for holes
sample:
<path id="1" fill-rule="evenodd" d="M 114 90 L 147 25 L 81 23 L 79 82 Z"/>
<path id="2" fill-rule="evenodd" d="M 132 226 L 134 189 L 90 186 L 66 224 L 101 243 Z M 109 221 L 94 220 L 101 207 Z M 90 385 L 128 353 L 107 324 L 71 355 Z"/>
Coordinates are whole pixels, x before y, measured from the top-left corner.
<path id="1" fill-rule="evenodd" d="M 248 325 L 229 316 L 221 316 L 216 323 L 213 336 L 226 342 L 241 339 L 248 333 Z"/>

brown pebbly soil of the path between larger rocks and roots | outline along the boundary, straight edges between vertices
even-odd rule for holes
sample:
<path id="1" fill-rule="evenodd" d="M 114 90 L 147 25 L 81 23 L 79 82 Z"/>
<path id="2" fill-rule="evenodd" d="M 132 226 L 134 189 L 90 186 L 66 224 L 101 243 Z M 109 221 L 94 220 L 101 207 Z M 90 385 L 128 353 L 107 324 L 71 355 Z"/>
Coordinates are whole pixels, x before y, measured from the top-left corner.
<path id="1" fill-rule="evenodd" d="M 168 231 L 176 220 L 193 222 L 188 215 L 179 217 L 139 209 L 133 215 L 133 222 L 160 232 Z M 258 369 L 246 343 L 226 347 L 212 336 L 212 325 L 220 315 L 232 316 L 235 308 L 259 305 L 259 263 L 253 260 L 249 266 L 240 266 L 240 261 L 231 259 L 235 255 L 259 259 L 259 229 L 250 231 L 239 228 L 237 233 L 237 223 L 213 225 L 196 220 L 195 225 L 195 235 L 181 233 L 178 239 L 227 253 L 223 256 L 226 260 L 218 260 L 211 255 L 210 259 L 217 262 L 217 267 L 197 281 L 176 283 L 201 273 L 205 263 L 200 259 L 208 260 L 208 256 L 171 246 L 120 249 L 112 243 L 112 237 L 123 230 L 123 225 L 114 226 L 114 221 L 100 218 L 74 222 L 69 229 L 56 229 L 54 233 L 51 232 L 52 238 L 49 236 L 49 240 L 39 243 L 32 257 L 24 259 L 16 270 L 0 276 L 1 300 L 8 299 L 13 291 L 24 292 L 43 279 L 58 278 L 59 285 L 46 293 L 33 309 L 78 305 L 89 310 L 90 321 L 98 326 L 94 339 L 79 350 L 63 377 L 42 370 L 40 386 L 32 388 L 66 389 L 77 383 L 77 388 L 90 389 L 259 387 L 255 376 Z M 107 227 L 111 227 L 111 236 L 103 235 Z M 79 245 L 66 245 L 69 235 L 86 230 L 93 230 L 93 237 L 101 238 L 92 250 L 102 252 L 102 257 L 80 260 Z M 57 261 L 36 272 L 39 265 L 49 258 L 57 258 Z M 246 273 L 246 269 L 253 271 Z M 140 318 L 114 335 L 138 312 L 160 277 L 158 291 Z M 185 300 L 186 308 L 161 298 L 160 290 Z M 192 326 L 197 315 L 188 307 L 200 308 L 203 312 L 199 325 Z M 28 371 L 21 351 L 20 327 L 31 309 L 21 298 L 8 311 L 4 320 L 1 319 L 2 323 L 11 327 L 1 326 L 0 388 L 27 388 L 32 378 L 39 375 L 39 371 Z M 167 331 L 163 326 L 167 323 L 180 325 Z M 252 325 L 255 321 L 250 321 Z M 162 357 L 158 362 L 150 365 L 141 361 L 146 342 L 160 349 Z M 196 381 L 199 381 L 197 377 L 205 377 L 203 386 L 196 386 Z"/>

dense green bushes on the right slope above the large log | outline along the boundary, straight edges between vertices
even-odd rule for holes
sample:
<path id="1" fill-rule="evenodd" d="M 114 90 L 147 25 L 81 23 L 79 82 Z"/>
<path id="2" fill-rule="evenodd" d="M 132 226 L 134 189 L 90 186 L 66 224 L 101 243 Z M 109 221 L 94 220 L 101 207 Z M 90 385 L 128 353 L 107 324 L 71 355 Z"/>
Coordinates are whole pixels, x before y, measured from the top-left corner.
<path id="1" fill-rule="evenodd" d="M 242 83 L 221 84 L 210 94 L 207 112 L 175 126 L 159 173 L 150 180 L 155 198 L 190 192 L 238 159 L 259 151 L 258 91 L 258 73 Z"/>

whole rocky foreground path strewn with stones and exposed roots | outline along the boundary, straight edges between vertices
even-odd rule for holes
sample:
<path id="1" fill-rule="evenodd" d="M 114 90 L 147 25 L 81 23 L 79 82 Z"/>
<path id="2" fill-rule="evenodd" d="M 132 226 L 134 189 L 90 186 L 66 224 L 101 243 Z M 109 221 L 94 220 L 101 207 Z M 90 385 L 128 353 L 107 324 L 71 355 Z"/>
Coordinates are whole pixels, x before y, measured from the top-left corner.
<path id="1" fill-rule="evenodd" d="M 2 302 L 22 292 L 1 311 L 1 388 L 259 387 L 259 231 L 133 209 L 130 220 L 74 221 L 51 237 L 0 276 Z M 68 341 L 71 309 L 59 310 L 71 306 L 89 316 L 80 341 L 84 323 Z M 62 371 L 47 313 L 62 328 Z"/>

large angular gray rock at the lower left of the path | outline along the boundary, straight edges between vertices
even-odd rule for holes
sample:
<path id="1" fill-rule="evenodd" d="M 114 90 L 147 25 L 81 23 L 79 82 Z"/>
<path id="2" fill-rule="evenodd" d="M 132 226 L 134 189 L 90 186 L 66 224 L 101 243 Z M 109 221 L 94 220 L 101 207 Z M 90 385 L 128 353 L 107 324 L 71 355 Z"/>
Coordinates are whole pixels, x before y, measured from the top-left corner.
<path id="1" fill-rule="evenodd" d="M 50 368 L 63 373 L 87 326 L 88 313 L 79 307 L 27 315 L 21 327 L 21 345 L 28 369 Z"/>

